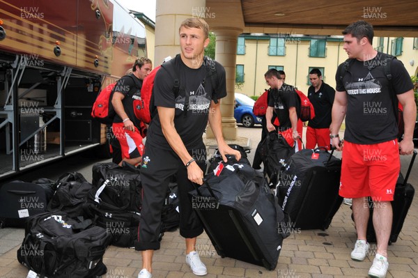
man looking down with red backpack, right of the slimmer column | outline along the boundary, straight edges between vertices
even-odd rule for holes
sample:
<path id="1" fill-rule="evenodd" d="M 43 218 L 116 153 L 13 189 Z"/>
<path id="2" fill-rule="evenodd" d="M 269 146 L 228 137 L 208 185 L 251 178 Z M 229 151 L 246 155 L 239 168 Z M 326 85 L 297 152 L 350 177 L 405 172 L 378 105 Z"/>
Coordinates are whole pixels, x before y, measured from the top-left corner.
<path id="1" fill-rule="evenodd" d="M 265 82 L 272 88 L 268 109 L 265 113 L 267 130 L 269 132 L 276 130 L 271 123 L 274 112 L 279 120 L 279 127 L 277 128 L 279 134 L 293 147 L 300 136 L 297 132 L 297 114 L 298 109 L 300 109 L 297 93 L 293 86 L 283 86 L 283 79 L 274 68 L 265 72 L 264 77 Z"/>

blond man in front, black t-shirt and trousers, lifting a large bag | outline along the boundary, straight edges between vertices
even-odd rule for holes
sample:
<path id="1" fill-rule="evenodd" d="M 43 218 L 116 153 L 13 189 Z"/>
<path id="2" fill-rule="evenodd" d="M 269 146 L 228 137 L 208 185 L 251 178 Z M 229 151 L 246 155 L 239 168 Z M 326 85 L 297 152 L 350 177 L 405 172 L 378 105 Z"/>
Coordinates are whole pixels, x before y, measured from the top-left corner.
<path id="1" fill-rule="evenodd" d="M 142 270 L 139 278 L 150 278 L 153 250 L 160 249 L 161 210 L 171 176 L 176 176 L 180 199 L 180 235 L 186 241 L 186 263 L 195 275 L 206 275 L 206 266 L 195 250 L 196 238 L 203 226 L 192 208 L 188 192 L 203 184 L 206 147 L 202 135 L 209 121 L 224 161 L 226 154 L 240 160 L 240 152 L 226 144 L 222 135 L 219 99 L 226 96 L 225 70 L 210 59 L 203 59 L 209 43 L 208 24 L 198 18 L 182 22 L 181 52 L 155 75 L 154 98 L 158 114 L 148 128 L 144 158 L 141 163 L 143 203 L 139 244 Z M 180 81 L 173 92 L 174 77 L 166 69 L 173 67 Z M 208 72 L 215 70 L 216 77 Z"/>

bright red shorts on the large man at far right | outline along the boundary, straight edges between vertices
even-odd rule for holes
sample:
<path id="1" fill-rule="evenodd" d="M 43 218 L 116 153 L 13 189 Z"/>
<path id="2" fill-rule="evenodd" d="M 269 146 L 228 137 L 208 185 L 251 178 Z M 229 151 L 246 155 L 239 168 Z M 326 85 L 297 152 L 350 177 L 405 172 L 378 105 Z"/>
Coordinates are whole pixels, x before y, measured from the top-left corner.
<path id="1" fill-rule="evenodd" d="M 339 194 L 393 201 L 401 170 L 398 141 L 359 145 L 344 141 Z"/>

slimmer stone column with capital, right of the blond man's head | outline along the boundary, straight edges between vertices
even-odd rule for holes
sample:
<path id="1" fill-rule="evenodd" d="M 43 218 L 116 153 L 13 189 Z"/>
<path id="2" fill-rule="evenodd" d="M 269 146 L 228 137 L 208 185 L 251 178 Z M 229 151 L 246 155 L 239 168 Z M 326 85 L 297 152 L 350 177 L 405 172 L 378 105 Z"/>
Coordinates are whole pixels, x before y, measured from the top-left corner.
<path id="1" fill-rule="evenodd" d="M 215 60 L 221 63 L 226 71 L 226 91 L 228 95 L 221 100 L 222 131 L 227 140 L 237 139 L 237 125 L 233 117 L 235 93 L 235 64 L 238 35 L 242 29 L 233 27 L 215 27 L 211 29 L 216 35 Z M 213 138 L 212 130 L 206 130 L 206 137 Z"/>

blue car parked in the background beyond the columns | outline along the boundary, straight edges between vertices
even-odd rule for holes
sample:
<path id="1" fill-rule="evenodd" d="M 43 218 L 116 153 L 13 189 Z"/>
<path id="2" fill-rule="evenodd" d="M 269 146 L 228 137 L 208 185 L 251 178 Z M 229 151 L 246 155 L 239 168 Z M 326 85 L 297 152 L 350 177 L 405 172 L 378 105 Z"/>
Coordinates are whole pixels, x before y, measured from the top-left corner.
<path id="1" fill-rule="evenodd" d="M 235 93 L 235 109 L 233 116 L 237 123 L 242 123 L 245 128 L 251 128 L 254 124 L 261 124 L 261 118 L 255 116 L 252 112 L 255 100 L 242 93 Z"/>

